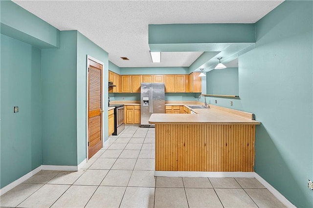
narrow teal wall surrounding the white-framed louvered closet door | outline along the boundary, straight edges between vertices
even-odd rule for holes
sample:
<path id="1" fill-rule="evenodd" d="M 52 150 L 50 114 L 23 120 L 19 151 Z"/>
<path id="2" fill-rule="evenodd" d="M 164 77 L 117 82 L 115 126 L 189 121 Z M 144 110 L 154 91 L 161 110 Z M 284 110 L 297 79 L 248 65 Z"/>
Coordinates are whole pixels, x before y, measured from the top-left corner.
<path id="1" fill-rule="evenodd" d="M 108 139 L 108 68 L 109 54 L 77 32 L 77 163 L 86 158 L 87 55 L 103 62 L 103 142 Z"/>

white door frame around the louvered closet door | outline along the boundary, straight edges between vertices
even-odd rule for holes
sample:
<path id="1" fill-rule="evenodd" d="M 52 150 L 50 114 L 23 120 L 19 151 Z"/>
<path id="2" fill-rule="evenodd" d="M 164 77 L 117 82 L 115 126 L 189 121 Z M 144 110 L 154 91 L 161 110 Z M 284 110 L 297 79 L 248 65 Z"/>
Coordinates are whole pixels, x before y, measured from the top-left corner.
<path id="1" fill-rule="evenodd" d="M 101 83 L 102 83 L 102 87 L 104 86 L 103 84 L 103 77 L 104 77 L 104 63 L 93 58 L 92 56 L 89 56 L 87 55 L 86 56 L 86 160 L 88 161 L 88 115 L 89 115 L 89 109 L 88 109 L 88 98 L 89 98 L 89 91 L 88 91 L 88 79 L 89 79 L 89 72 L 88 72 L 88 67 L 89 67 L 89 59 L 92 60 L 93 62 L 97 62 L 99 63 L 100 65 L 102 65 L 102 80 L 101 80 Z M 102 98 L 102 101 L 101 101 L 101 109 L 103 109 L 103 88 L 101 90 L 101 98 Z M 102 135 L 101 135 L 101 146 L 103 146 L 103 121 L 104 121 L 104 118 L 103 118 L 103 113 L 101 113 L 101 131 L 102 131 Z"/>

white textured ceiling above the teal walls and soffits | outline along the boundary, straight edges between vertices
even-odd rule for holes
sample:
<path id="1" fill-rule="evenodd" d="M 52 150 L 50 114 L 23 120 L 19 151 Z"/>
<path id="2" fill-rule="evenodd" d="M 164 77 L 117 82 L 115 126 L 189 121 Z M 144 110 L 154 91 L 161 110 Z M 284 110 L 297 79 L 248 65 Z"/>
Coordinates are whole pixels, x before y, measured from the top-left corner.
<path id="1" fill-rule="evenodd" d="M 78 30 L 120 67 L 190 65 L 196 54 L 153 63 L 148 24 L 255 23 L 283 0 L 13 0 L 59 30 Z M 201 31 L 199 31 L 201 32 Z M 190 60 L 181 60 L 181 57 Z M 120 57 L 128 57 L 123 61 Z"/>

